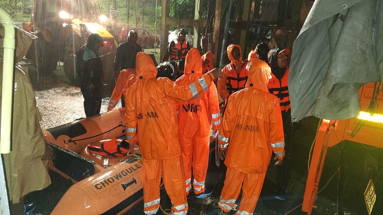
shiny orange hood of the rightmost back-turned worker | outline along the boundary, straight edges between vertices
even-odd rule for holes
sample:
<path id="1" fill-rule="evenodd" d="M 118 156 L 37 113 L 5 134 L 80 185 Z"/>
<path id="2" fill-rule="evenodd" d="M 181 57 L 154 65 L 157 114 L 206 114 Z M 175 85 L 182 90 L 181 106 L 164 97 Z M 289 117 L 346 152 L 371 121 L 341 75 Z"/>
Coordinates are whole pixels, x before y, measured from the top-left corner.
<path id="1" fill-rule="evenodd" d="M 267 83 L 270 79 L 271 68 L 266 62 L 257 58 L 251 59 L 248 74 L 246 87 L 252 84 L 254 88 L 268 92 Z"/>

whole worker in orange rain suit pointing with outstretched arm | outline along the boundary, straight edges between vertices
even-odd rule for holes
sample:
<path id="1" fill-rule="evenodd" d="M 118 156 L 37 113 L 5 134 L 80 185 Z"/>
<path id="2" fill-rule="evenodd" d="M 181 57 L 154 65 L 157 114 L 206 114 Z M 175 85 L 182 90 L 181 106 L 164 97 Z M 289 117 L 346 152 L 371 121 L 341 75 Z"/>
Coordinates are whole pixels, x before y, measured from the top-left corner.
<path id="1" fill-rule="evenodd" d="M 155 78 L 157 68 L 144 52 L 137 53 L 136 83 L 126 91 L 126 140 L 131 148 L 139 141 L 143 158 L 144 213 L 157 213 L 160 205 L 161 173 L 172 200 L 172 214 L 185 215 L 185 192 L 181 146 L 175 101 L 198 98 L 208 90 L 220 71 L 213 69 L 189 86 L 178 86 L 169 78 Z"/>

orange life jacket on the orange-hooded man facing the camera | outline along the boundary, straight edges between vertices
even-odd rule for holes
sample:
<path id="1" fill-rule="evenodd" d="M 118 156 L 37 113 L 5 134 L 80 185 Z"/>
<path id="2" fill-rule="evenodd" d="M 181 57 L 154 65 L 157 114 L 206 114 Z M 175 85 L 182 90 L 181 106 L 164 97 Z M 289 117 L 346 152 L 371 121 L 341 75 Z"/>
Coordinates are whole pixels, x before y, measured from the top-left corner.
<path id="1" fill-rule="evenodd" d="M 234 64 L 230 63 L 226 65 L 228 71 L 226 72 L 226 89 L 229 91 L 229 94 L 233 94 L 238 90 L 245 88 L 248 76 L 250 62 L 246 61 L 242 65 L 239 75 L 237 73 Z"/>

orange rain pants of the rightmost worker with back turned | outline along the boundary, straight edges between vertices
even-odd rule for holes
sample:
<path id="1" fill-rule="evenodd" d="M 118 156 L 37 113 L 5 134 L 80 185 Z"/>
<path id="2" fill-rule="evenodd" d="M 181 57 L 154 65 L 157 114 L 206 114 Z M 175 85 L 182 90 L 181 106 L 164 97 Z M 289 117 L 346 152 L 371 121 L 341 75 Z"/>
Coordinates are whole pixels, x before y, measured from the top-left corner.
<path id="1" fill-rule="evenodd" d="M 219 207 L 229 212 L 236 202 L 242 187 L 241 205 L 235 214 L 252 215 L 257 205 L 259 195 L 262 190 L 266 172 L 264 173 L 244 173 L 236 169 L 228 168 L 226 171 L 226 179 L 219 198 Z M 243 183 L 243 186 L 242 186 Z"/>

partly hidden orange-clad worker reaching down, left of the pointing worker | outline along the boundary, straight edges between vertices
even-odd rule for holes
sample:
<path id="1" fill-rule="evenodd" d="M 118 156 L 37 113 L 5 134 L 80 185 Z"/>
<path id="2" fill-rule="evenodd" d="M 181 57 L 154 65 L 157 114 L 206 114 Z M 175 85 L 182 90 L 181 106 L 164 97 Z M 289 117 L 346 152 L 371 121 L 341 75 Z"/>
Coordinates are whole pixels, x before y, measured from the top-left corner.
<path id="1" fill-rule="evenodd" d="M 136 69 L 124 69 L 121 70 L 121 72 L 118 75 L 117 81 L 116 81 L 116 86 L 115 89 L 113 90 L 112 95 L 110 96 L 109 99 L 109 104 L 108 104 L 108 111 L 113 110 L 113 108 L 116 107 L 119 99 L 121 98 L 125 89 L 125 86 L 128 85 L 126 88 L 129 86 L 133 85 L 133 83 L 136 82 Z"/>

